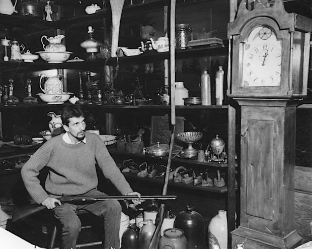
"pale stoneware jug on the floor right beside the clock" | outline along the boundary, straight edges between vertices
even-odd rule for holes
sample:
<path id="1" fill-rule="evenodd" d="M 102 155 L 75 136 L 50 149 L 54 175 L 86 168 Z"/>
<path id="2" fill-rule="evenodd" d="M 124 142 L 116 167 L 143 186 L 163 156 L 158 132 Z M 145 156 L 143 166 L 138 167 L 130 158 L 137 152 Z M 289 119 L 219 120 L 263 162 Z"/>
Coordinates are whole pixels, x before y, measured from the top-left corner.
<path id="1" fill-rule="evenodd" d="M 208 226 L 208 240 L 209 249 L 227 248 L 227 219 L 226 211 L 219 210 L 218 214 L 214 216 Z"/>

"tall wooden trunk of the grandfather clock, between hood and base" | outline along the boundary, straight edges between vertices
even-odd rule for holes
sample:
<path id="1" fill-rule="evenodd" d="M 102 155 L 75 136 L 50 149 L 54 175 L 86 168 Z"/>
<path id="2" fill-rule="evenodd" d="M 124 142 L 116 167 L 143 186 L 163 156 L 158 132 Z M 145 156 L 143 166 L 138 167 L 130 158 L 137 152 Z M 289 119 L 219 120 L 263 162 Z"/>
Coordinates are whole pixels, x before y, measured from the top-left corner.
<path id="1" fill-rule="evenodd" d="M 283 101 L 281 106 L 265 102 L 268 106 L 239 100 L 241 226 L 283 237 L 293 229 L 289 217 L 294 206 L 286 203 L 293 198 L 295 107 L 285 106 Z"/>

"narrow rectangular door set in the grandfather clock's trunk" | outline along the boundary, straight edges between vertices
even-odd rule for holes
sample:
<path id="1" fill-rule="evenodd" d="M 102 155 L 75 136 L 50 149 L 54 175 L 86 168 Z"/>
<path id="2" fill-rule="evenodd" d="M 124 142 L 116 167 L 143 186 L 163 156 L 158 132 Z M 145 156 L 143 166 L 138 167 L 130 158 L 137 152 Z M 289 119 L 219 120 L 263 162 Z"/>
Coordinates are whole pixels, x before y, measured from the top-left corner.
<path id="1" fill-rule="evenodd" d="M 246 214 L 273 220 L 274 121 L 251 119 L 248 129 Z"/>

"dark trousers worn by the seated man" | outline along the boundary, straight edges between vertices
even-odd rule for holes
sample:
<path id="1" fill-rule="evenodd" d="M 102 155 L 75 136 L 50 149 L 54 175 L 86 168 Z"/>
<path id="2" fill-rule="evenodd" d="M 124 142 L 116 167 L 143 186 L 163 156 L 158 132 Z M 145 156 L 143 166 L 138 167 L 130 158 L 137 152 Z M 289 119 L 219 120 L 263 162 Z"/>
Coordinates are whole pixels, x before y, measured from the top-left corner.
<path id="1" fill-rule="evenodd" d="M 97 190 L 91 190 L 82 196 L 106 196 L 106 194 Z M 76 210 L 82 209 L 104 218 L 104 248 L 119 248 L 121 206 L 116 200 L 107 200 L 87 205 L 66 203 L 53 209 L 54 216 L 62 224 L 63 249 L 76 248 L 76 240 L 81 230 L 81 221 L 76 215 Z"/>

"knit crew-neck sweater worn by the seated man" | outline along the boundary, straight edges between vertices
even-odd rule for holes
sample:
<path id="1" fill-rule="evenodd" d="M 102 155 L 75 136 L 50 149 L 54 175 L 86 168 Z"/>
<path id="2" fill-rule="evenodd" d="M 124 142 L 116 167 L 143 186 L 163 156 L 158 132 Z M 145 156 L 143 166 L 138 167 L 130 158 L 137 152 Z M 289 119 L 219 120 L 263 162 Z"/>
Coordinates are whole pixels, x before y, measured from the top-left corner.
<path id="1" fill-rule="evenodd" d="M 94 133 L 86 133 L 86 144 L 67 144 L 62 135 L 49 139 L 25 163 L 21 174 L 30 196 L 40 204 L 49 196 L 82 195 L 95 189 L 98 185 L 96 163 L 122 195 L 133 192 L 106 146 Z M 37 176 L 45 166 L 50 170 L 44 190 Z"/>

